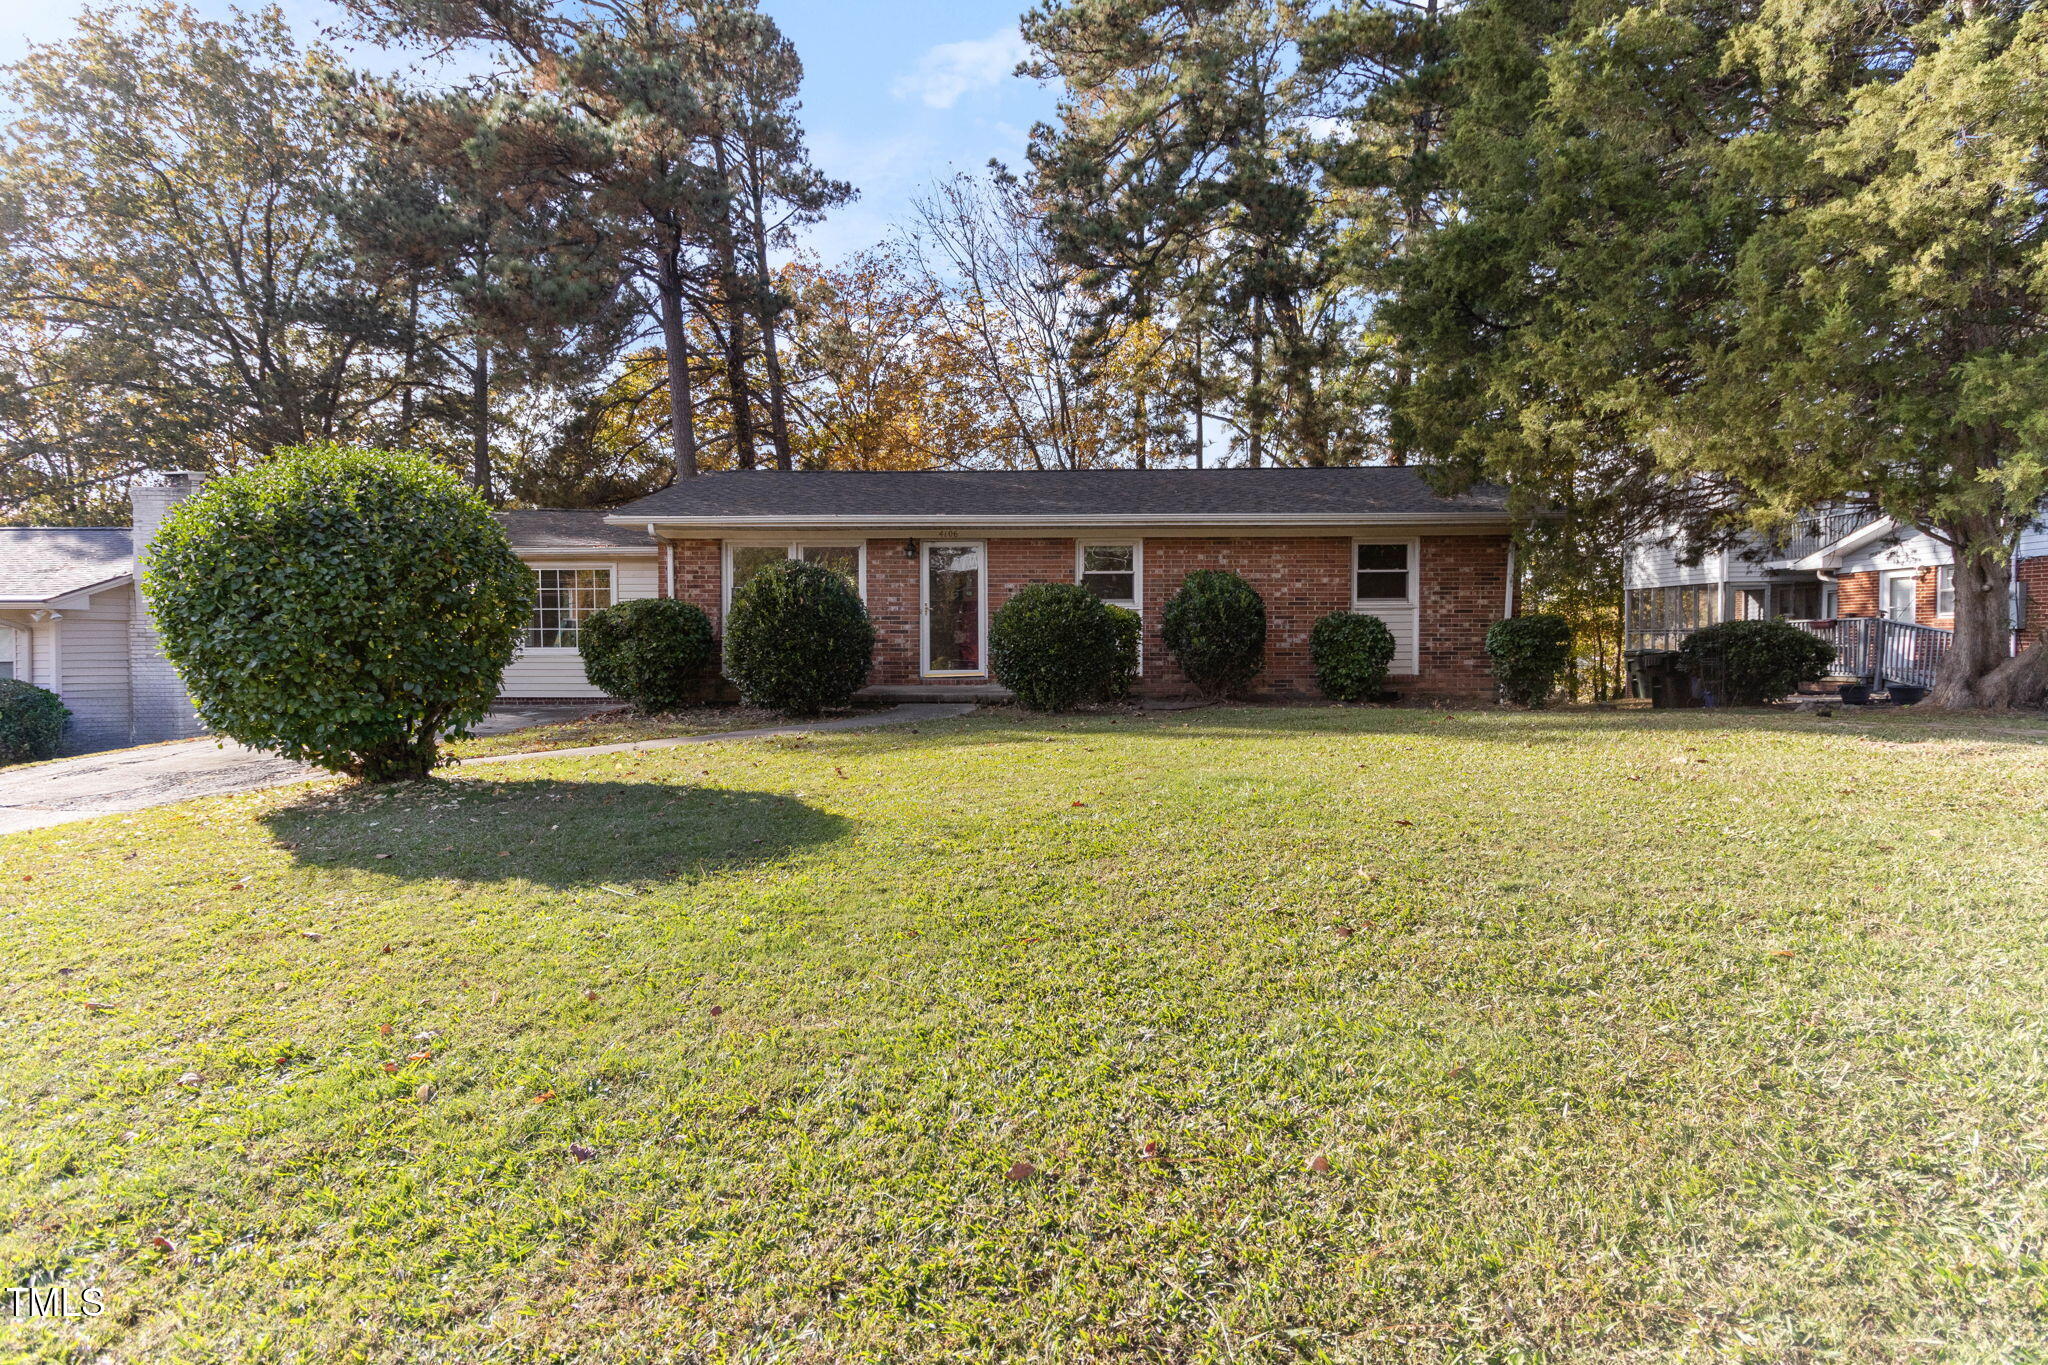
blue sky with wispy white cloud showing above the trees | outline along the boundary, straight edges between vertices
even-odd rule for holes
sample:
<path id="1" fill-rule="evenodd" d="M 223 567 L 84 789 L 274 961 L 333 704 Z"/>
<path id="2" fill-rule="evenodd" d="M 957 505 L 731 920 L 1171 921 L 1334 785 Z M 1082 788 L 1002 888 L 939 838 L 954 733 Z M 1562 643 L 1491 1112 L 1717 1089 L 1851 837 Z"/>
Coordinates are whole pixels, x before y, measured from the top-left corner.
<path id="1" fill-rule="evenodd" d="M 836 260 L 885 237 L 909 201 L 948 170 L 989 158 L 1024 160 L 1032 121 L 1053 113 L 1053 90 L 1010 76 L 1024 55 L 1016 16 L 1024 0 L 764 0 L 805 65 L 805 129 L 817 164 L 860 199 L 813 229 L 809 248 Z M 0 63 L 29 43 L 61 41 L 82 0 L 0 4 Z M 221 14 L 223 0 L 197 0 Z M 285 4 L 313 35 L 334 23 L 319 0 Z"/>

